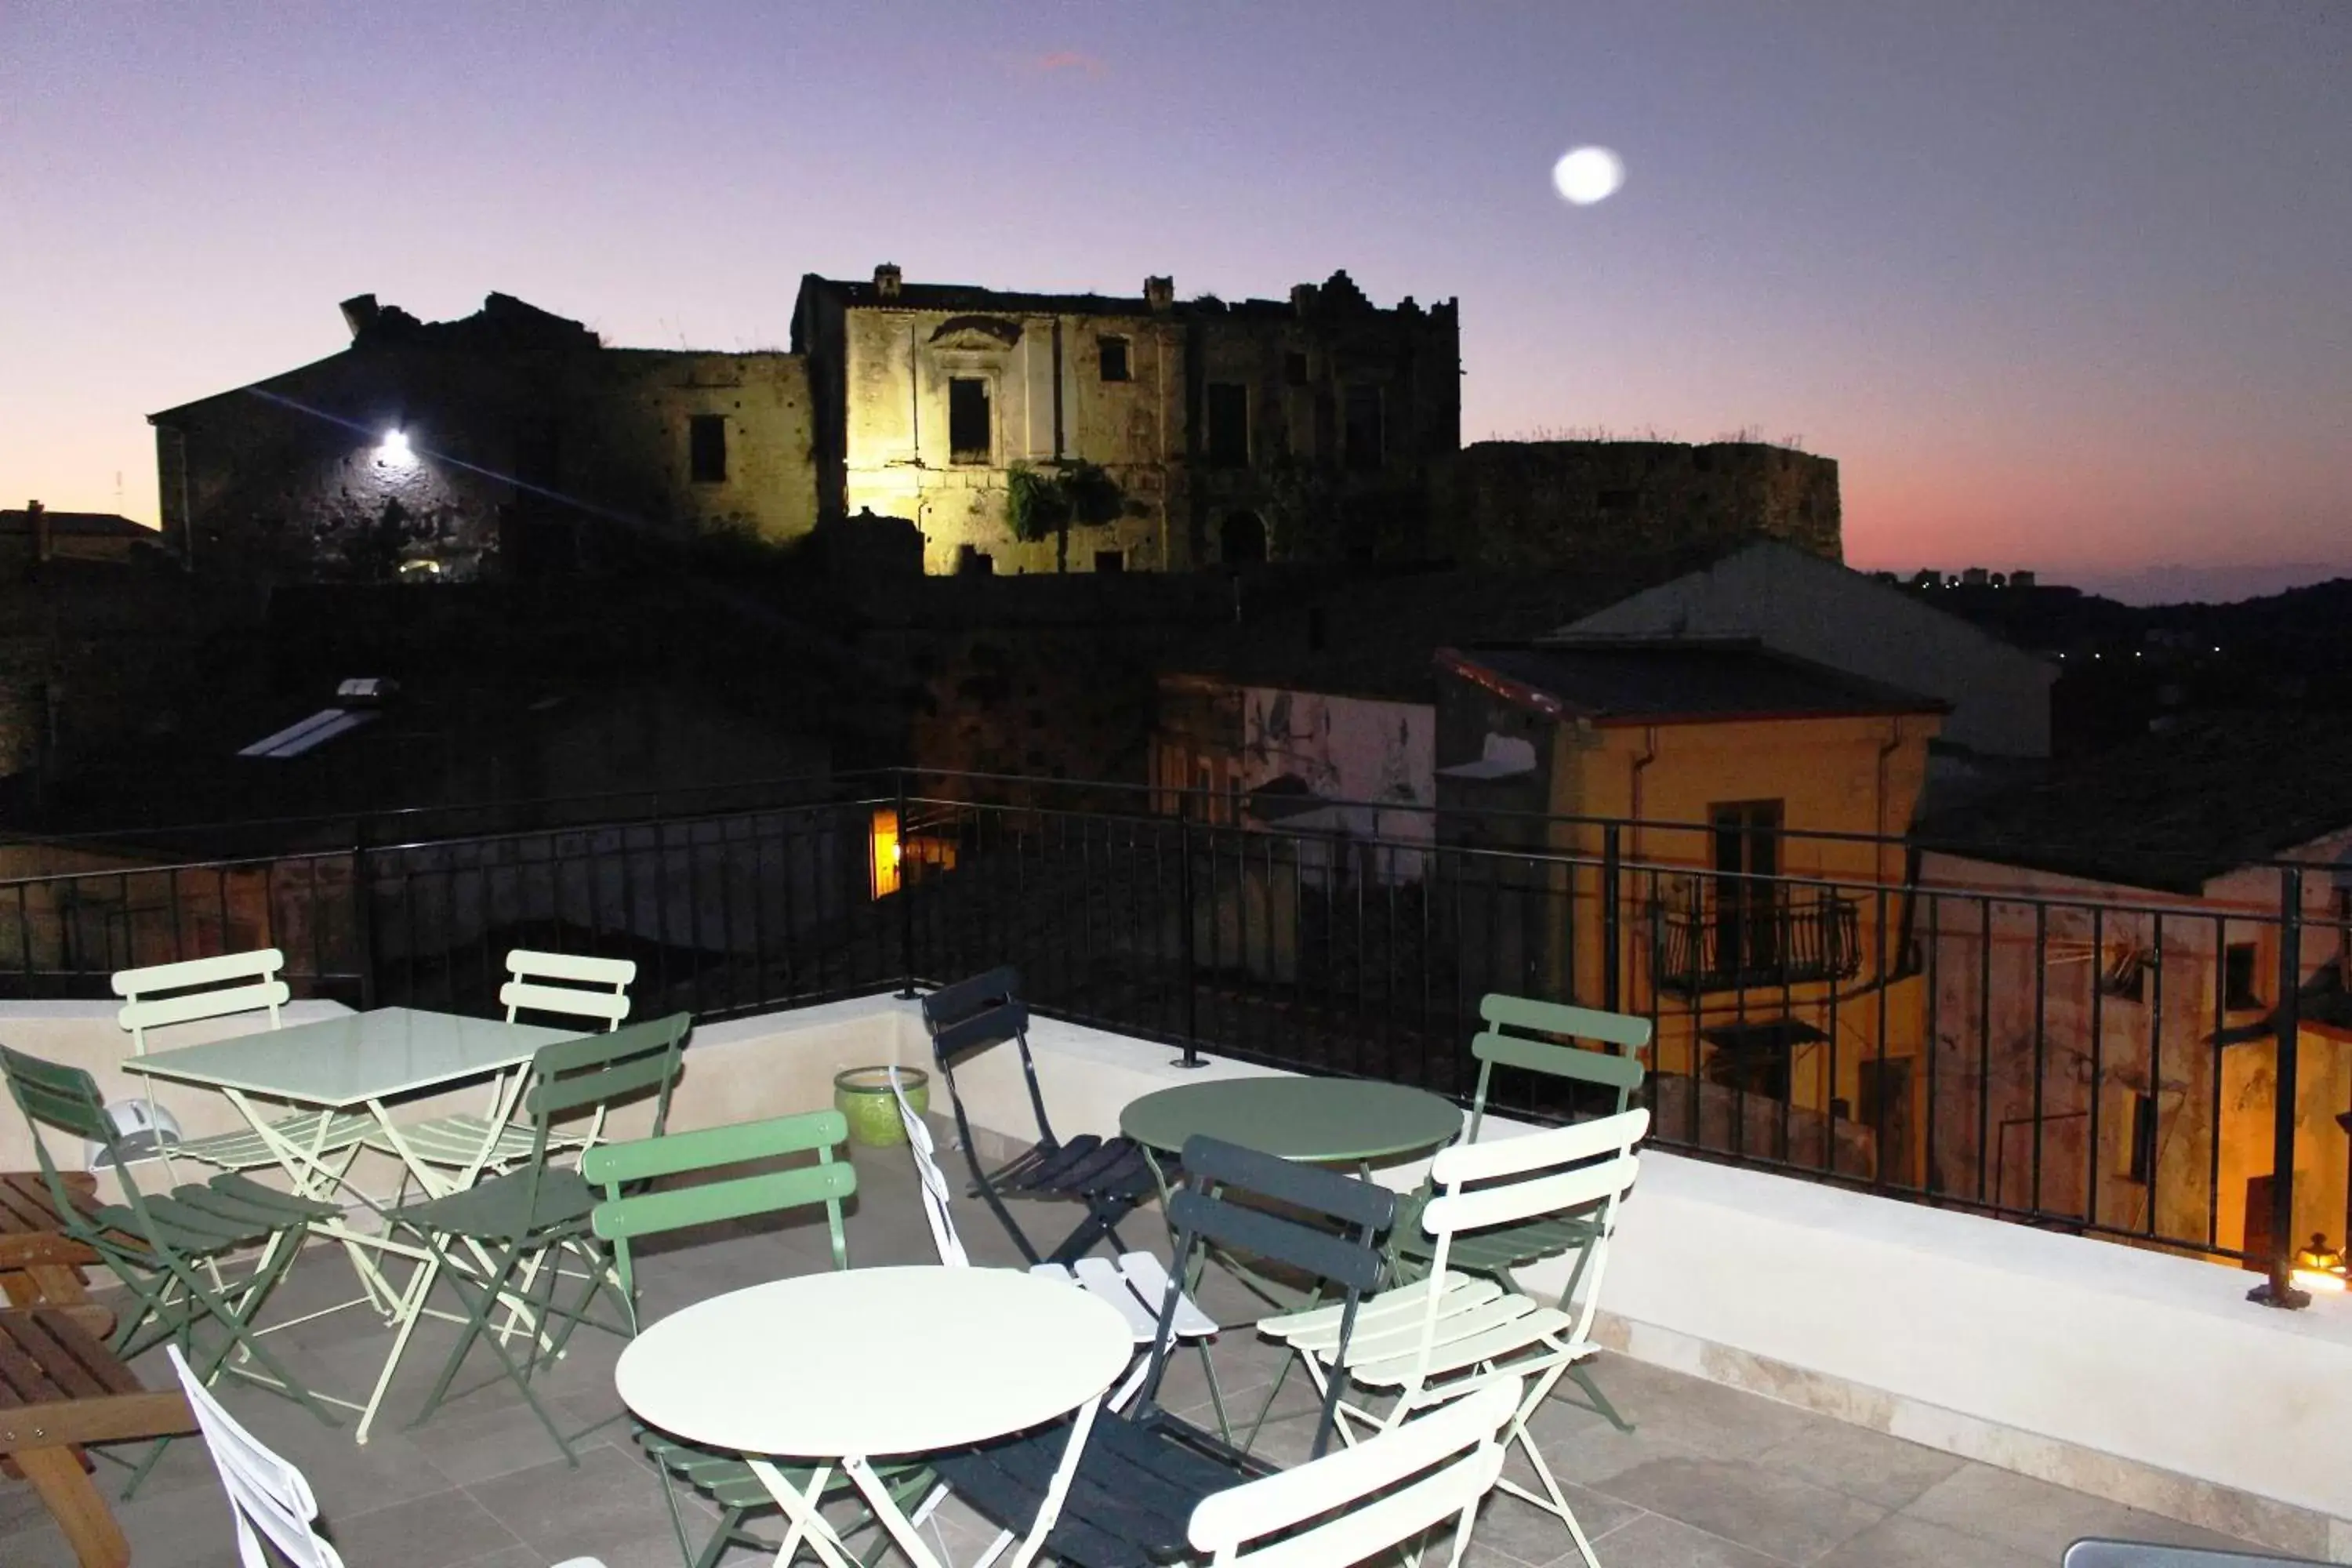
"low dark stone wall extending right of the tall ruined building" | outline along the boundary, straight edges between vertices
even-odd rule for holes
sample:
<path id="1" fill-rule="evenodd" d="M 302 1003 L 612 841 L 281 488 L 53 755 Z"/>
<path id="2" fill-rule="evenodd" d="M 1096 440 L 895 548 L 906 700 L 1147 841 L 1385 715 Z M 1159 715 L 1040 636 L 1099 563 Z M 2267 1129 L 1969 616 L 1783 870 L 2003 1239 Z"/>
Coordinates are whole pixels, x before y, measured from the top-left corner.
<path id="1" fill-rule="evenodd" d="M 1463 564 L 1541 569 L 1752 538 L 1844 559 L 1837 463 L 1762 442 L 1475 442 L 1437 494 L 1437 538 Z"/>

